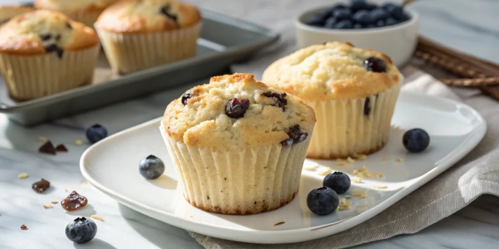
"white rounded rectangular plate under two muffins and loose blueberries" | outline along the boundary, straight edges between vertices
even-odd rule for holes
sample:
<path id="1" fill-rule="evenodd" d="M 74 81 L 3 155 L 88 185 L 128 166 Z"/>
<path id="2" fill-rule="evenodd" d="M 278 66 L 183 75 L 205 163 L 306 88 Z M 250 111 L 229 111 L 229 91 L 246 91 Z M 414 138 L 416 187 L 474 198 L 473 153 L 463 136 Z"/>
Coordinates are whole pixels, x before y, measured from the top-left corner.
<path id="1" fill-rule="evenodd" d="M 401 93 L 392 120 L 388 144 L 364 161 L 336 166 L 336 160 L 305 160 L 318 163 L 315 171 L 303 170 L 300 190 L 292 202 L 277 210 L 249 216 L 217 215 L 192 207 L 183 199 L 177 174 L 161 137 L 160 120 L 126 129 L 88 148 L 80 160 L 83 176 L 96 188 L 140 213 L 196 233 L 250 243 L 293 243 L 329 236 L 372 218 L 463 158 L 482 139 L 487 129 L 471 107 L 442 98 Z M 423 128 L 431 137 L 422 153 L 408 153 L 402 145 L 404 130 Z M 164 175 L 146 180 L 139 161 L 150 155 L 166 165 Z M 402 158 L 403 162 L 396 161 Z M 368 190 L 367 198 L 353 197 L 351 209 L 316 216 L 306 207 L 306 196 L 322 186 L 327 167 L 353 177 L 363 165 L 382 173 L 378 179 L 352 183 L 350 190 Z M 374 186 L 386 186 L 385 189 Z M 362 206 L 362 208 L 359 208 Z M 274 226 L 279 222 L 282 225 Z"/>

